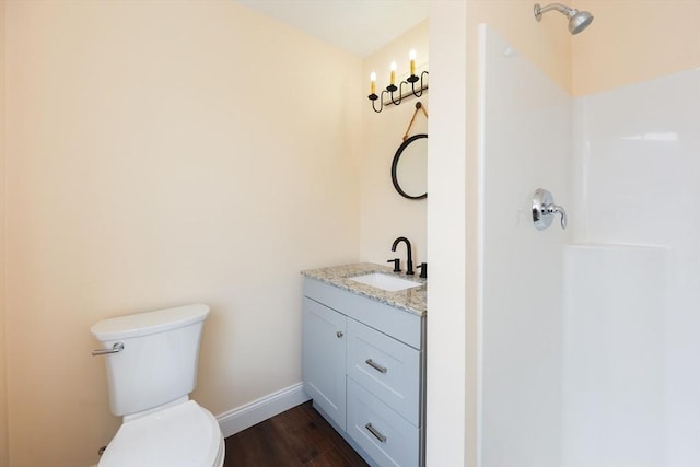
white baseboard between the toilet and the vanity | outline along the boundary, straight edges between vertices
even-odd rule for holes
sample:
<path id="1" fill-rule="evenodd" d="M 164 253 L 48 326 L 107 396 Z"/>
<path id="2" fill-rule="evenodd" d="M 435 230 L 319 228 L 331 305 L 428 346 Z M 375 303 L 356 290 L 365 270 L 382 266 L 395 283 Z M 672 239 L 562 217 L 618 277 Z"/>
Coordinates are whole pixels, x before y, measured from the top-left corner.
<path id="1" fill-rule="evenodd" d="M 303 383 L 296 383 L 217 416 L 223 437 L 260 423 L 308 400 Z"/>

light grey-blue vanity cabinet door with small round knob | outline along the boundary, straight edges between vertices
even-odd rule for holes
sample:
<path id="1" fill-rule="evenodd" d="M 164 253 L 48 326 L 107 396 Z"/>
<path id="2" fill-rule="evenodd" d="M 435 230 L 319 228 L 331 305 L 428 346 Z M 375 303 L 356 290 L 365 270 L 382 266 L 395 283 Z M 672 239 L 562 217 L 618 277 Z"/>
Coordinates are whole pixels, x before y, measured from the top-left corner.
<path id="1" fill-rule="evenodd" d="M 346 320 L 304 297 L 304 389 L 341 430 L 346 429 Z"/>

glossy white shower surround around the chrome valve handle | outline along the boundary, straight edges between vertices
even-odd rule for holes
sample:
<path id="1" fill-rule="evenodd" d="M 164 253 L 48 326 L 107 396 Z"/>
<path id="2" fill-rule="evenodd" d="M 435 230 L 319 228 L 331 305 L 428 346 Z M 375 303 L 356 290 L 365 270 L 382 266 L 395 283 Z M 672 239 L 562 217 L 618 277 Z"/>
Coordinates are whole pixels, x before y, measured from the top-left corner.
<path id="1" fill-rule="evenodd" d="M 481 466 L 700 465 L 700 70 L 573 98 L 480 34 Z"/>

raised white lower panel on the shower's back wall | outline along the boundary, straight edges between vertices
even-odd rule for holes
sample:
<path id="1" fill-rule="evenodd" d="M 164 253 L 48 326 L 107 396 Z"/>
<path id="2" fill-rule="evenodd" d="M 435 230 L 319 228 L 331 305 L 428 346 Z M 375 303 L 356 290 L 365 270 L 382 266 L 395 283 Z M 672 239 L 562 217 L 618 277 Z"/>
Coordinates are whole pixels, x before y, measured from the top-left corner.
<path id="1" fill-rule="evenodd" d="M 667 249 L 564 248 L 563 467 L 664 467 Z"/>

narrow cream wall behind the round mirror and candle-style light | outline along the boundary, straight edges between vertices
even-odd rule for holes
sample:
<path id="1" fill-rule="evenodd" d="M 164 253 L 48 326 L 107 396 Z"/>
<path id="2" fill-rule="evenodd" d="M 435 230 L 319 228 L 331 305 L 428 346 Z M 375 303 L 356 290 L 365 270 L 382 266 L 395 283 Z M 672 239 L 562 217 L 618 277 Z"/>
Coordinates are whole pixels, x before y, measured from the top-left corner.
<path id="1" fill-rule="evenodd" d="M 409 74 L 408 54 L 417 52 L 418 71 L 428 66 L 428 21 L 409 30 L 406 34 L 387 44 L 363 60 L 363 80 L 370 94 L 370 73 L 377 73 L 377 91 L 389 83 L 389 63 L 397 62 L 397 83 Z M 362 259 L 384 264 L 387 259 L 399 257 L 401 268 L 406 270 L 406 250 L 401 245 L 393 253 L 392 242 L 406 236 L 412 246 L 413 262 L 428 261 L 425 249 L 427 206 L 425 199 L 410 200 L 401 197 L 392 184 L 392 161 L 416 112 L 416 102 L 420 101 L 430 115 L 430 92 L 420 98 L 406 98 L 401 105 L 388 105 L 382 113 L 372 109 L 369 100 L 364 100 L 362 114 L 362 155 L 361 155 L 361 244 Z M 428 118 L 419 112 L 409 136 L 428 133 Z M 428 177 L 428 167 L 423 170 Z"/>

